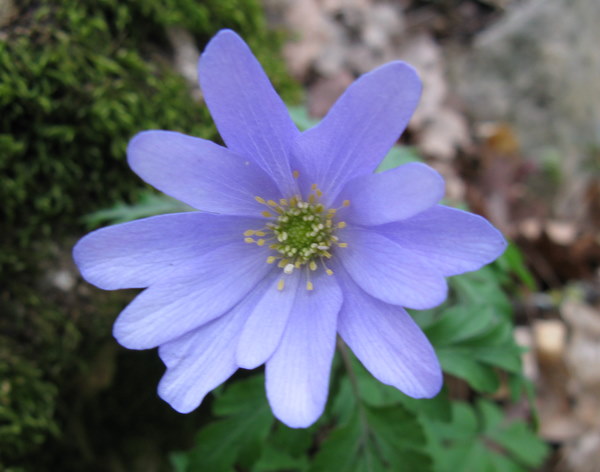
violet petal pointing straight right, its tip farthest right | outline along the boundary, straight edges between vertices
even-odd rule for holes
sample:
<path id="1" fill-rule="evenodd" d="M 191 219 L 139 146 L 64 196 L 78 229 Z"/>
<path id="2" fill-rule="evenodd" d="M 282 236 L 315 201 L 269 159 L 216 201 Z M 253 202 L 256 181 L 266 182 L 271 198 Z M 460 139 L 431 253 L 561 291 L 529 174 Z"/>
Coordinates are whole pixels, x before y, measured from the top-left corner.
<path id="1" fill-rule="evenodd" d="M 480 269 L 506 248 L 500 231 L 485 218 L 442 205 L 373 229 L 446 276 Z"/>

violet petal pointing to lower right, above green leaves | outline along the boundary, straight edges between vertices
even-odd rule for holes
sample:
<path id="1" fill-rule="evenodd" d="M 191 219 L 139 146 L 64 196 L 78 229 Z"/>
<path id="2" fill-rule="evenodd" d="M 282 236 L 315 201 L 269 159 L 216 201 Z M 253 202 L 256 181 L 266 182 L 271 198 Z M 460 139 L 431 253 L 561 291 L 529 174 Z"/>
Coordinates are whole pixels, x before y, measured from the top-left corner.
<path id="1" fill-rule="evenodd" d="M 338 330 L 356 357 L 380 382 L 414 398 L 431 398 L 442 371 L 431 343 L 410 315 L 363 292 L 343 277 Z"/>

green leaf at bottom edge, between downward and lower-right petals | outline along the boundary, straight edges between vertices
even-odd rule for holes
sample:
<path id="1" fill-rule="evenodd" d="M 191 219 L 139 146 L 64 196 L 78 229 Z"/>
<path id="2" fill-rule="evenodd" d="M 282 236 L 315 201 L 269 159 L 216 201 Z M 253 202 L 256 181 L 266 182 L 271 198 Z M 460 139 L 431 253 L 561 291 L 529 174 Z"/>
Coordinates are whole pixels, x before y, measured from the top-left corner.
<path id="1" fill-rule="evenodd" d="M 328 411 L 341 426 L 321 444 L 310 471 L 431 470 L 419 416 L 449 417 L 445 393 L 431 400 L 409 398 L 373 378 L 349 351 L 345 356 L 351 371 L 338 379 Z"/>

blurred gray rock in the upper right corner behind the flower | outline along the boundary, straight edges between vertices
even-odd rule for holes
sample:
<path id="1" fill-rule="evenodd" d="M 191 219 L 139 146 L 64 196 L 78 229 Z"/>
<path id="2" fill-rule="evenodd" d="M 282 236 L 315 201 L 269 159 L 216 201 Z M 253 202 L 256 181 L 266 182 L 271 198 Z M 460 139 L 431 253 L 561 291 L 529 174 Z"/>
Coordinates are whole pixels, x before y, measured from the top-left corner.
<path id="1" fill-rule="evenodd" d="M 480 121 L 514 126 L 522 152 L 559 156 L 555 216 L 585 218 L 589 167 L 600 148 L 600 2 L 529 0 L 454 61 L 455 87 Z"/>

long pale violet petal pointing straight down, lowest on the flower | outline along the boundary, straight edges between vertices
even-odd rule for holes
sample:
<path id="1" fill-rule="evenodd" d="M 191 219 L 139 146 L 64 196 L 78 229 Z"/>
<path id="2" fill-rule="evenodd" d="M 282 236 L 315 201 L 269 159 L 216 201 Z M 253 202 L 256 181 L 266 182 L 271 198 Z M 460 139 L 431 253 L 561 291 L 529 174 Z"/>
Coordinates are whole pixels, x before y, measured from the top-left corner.
<path id="1" fill-rule="evenodd" d="M 320 273 L 314 290 L 300 287 L 279 347 L 267 361 L 267 397 L 275 416 L 305 428 L 323 413 L 335 351 L 342 292 L 334 277 Z"/>

